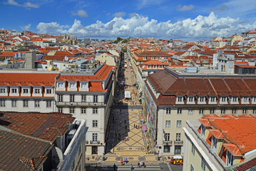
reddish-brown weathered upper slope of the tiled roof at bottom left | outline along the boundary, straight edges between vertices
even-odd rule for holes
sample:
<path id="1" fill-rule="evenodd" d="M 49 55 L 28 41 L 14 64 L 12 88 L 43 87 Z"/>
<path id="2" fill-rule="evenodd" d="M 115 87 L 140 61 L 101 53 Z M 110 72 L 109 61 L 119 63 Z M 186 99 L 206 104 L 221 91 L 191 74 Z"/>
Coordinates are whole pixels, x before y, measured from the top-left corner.
<path id="1" fill-rule="evenodd" d="M 0 125 L 5 128 L 51 142 L 57 136 L 65 135 L 68 125 L 75 120 L 72 115 L 62 113 L 4 112 L 1 114 Z"/>

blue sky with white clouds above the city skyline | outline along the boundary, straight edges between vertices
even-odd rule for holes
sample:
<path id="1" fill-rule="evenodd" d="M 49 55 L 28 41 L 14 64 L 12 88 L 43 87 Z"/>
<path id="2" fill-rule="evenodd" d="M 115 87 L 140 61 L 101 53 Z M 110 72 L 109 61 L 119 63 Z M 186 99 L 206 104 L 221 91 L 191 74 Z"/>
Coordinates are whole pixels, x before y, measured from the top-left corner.
<path id="1" fill-rule="evenodd" d="M 256 0 L 0 0 L 0 28 L 208 40 L 256 28 Z"/>

